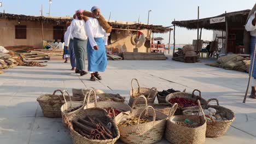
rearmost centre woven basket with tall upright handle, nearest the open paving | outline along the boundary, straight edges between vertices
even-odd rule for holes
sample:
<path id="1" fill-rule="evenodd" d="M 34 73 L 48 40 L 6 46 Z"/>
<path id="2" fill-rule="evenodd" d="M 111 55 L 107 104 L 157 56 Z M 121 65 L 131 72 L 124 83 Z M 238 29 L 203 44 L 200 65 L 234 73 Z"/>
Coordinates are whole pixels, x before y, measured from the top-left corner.
<path id="1" fill-rule="evenodd" d="M 129 105 L 131 106 L 133 104 L 133 101 L 139 96 L 139 95 L 144 95 L 147 98 L 148 104 L 154 104 L 155 101 L 155 96 L 158 93 L 156 91 L 156 88 L 144 88 L 140 87 L 138 83 L 138 88 L 133 88 L 132 82 L 133 80 L 136 80 L 138 83 L 137 79 L 132 79 L 131 81 L 131 91 L 130 91 L 130 100 L 129 100 Z M 137 104 L 144 104 L 143 100 L 138 100 Z"/>

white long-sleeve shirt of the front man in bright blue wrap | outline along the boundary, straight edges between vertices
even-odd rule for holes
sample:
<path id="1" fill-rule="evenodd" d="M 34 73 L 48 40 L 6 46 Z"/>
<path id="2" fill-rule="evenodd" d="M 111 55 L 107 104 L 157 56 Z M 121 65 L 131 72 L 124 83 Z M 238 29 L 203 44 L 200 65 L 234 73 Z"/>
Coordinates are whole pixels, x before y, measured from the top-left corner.
<path id="1" fill-rule="evenodd" d="M 108 45 L 109 34 L 107 34 L 106 31 L 102 28 L 102 26 L 100 26 L 100 23 L 98 23 L 97 19 L 90 17 L 88 21 L 86 21 L 85 32 L 88 36 L 92 49 L 94 46 L 97 45 L 94 38 L 103 38 L 104 44 Z"/>

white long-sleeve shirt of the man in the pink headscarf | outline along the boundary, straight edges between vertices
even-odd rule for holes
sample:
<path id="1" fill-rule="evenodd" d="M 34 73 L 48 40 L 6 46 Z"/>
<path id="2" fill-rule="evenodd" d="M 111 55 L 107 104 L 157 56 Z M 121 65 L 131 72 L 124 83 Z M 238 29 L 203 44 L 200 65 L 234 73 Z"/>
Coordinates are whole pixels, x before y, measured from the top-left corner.
<path id="1" fill-rule="evenodd" d="M 69 40 L 73 36 L 74 38 L 78 38 L 81 40 L 86 40 L 87 35 L 85 32 L 85 21 L 74 19 L 71 22 L 70 28 L 67 29 L 67 37 L 65 38 L 65 46 L 69 45 Z"/>

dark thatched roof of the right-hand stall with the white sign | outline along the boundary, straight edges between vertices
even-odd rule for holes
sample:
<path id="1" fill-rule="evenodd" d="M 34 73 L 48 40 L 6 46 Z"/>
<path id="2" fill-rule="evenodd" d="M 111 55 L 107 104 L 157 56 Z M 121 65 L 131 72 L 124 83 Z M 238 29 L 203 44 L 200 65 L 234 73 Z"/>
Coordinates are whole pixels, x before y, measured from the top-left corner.
<path id="1" fill-rule="evenodd" d="M 226 21 L 228 21 L 229 28 L 242 28 L 246 23 L 246 19 L 250 11 L 251 10 L 249 9 L 234 11 L 232 13 L 226 13 L 218 16 L 207 17 L 205 19 L 199 19 L 199 28 L 225 31 L 226 29 L 225 22 L 210 24 L 210 19 L 216 18 L 216 17 L 222 17 L 222 16 L 226 16 Z M 188 29 L 197 29 L 197 21 L 198 20 L 173 21 L 172 24 L 178 27 L 185 27 Z"/>

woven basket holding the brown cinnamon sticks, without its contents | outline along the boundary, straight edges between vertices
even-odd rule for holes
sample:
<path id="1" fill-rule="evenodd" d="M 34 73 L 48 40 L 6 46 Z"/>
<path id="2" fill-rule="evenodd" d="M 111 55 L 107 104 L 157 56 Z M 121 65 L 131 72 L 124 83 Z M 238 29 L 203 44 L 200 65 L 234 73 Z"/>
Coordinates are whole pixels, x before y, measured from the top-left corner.
<path id="1" fill-rule="evenodd" d="M 117 125 L 113 122 L 113 119 L 107 116 L 107 111 L 98 107 L 93 107 L 91 109 L 81 109 L 73 115 L 71 121 L 77 120 L 78 118 L 84 118 L 86 116 L 96 117 L 99 118 L 104 123 L 112 122 L 112 133 L 115 134 L 113 139 L 108 140 L 90 140 L 87 137 L 84 137 L 77 133 L 77 131 L 74 130 L 73 125 L 69 123 L 69 131 L 71 138 L 73 140 L 73 144 L 87 144 L 87 143 L 115 143 L 119 137 L 120 133 L 118 130 Z"/>

